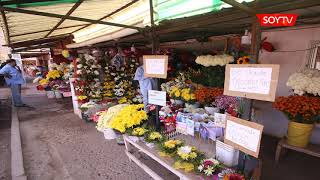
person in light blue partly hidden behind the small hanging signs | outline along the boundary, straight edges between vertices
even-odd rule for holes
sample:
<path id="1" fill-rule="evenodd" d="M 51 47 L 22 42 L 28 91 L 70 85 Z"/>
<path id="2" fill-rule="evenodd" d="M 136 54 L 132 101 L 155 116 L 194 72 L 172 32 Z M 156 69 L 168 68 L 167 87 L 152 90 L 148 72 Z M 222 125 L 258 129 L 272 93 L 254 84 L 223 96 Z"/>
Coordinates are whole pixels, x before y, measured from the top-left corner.
<path id="1" fill-rule="evenodd" d="M 148 111 L 148 91 L 156 89 L 156 82 L 152 78 L 144 77 L 143 58 L 139 58 L 140 66 L 137 68 L 134 79 L 139 82 L 140 92 L 143 98 L 144 110 Z"/>

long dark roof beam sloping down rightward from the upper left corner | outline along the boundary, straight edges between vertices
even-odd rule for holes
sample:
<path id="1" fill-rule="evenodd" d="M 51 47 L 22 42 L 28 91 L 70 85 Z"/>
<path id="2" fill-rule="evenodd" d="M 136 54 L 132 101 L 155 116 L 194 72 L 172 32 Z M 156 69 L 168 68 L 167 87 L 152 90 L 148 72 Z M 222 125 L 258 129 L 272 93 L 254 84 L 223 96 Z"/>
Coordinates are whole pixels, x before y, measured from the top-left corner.
<path id="1" fill-rule="evenodd" d="M 32 10 L 20 9 L 20 8 L 10 8 L 10 7 L 3 7 L 3 6 L 0 6 L 0 10 L 9 11 L 9 12 L 16 12 L 16 13 L 23 13 L 23 14 L 45 16 L 45 17 L 52 17 L 52 18 L 60 18 L 60 19 L 65 17 L 64 15 L 60 15 L 60 14 L 32 11 Z M 88 22 L 88 23 L 93 23 L 93 24 L 104 24 L 104 25 L 108 25 L 108 26 L 117 26 L 117 27 L 136 29 L 136 30 L 142 29 L 142 28 L 136 27 L 136 26 L 129 26 L 129 25 L 124 25 L 124 24 L 105 22 L 105 21 L 101 21 L 101 20 L 92 20 L 92 19 L 80 18 L 80 17 L 74 17 L 74 16 L 68 16 L 65 18 L 69 19 L 69 20 L 82 21 L 82 22 Z"/>

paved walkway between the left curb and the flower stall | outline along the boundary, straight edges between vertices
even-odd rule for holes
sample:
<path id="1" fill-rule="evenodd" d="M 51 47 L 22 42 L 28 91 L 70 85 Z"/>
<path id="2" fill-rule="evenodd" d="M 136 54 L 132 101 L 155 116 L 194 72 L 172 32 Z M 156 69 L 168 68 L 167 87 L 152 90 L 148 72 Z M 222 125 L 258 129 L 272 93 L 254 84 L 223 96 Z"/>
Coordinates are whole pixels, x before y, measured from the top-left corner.
<path id="1" fill-rule="evenodd" d="M 124 147 L 106 141 L 92 123 L 73 114 L 71 100 L 32 94 L 24 98 L 36 108 L 19 109 L 25 170 L 32 180 L 150 179 L 130 163 Z"/>

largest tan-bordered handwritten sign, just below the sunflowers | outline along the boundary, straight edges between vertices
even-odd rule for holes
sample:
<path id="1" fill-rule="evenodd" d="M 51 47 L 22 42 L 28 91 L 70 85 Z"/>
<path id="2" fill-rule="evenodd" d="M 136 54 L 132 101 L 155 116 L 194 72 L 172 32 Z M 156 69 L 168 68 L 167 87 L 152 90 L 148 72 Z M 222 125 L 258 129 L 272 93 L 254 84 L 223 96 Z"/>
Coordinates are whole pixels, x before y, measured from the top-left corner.
<path id="1" fill-rule="evenodd" d="M 279 68 L 276 64 L 227 64 L 224 95 L 274 101 Z"/>

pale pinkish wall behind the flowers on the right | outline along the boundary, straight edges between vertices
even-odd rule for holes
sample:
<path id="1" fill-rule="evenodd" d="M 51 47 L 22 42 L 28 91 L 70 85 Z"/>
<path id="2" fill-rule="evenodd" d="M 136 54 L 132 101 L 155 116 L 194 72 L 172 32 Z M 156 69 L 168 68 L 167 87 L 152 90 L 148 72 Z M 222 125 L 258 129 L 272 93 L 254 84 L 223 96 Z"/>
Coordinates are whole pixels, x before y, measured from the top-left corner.
<path id="1" fill-rule="evenodd" d="M 301 27 L 302 29 L 281 29 L 266 31 L 262 38 L 268 37 L 267 41 L 274 44 L 277 51 L 303 50 L 309 48 L 311 40 L 320 40 L 320 25 L 313 27 Z M 277 96 L 290 94 L 286 81 L 290 74 L 302 68 L 306 61 L 306 51 L 297 52 L 260 52 L 259 61 L 262 64 L 280 64 L 280 77 L 277 89 Z M 288 120 L 280 112 L 272 108 L 268 102 L 256 101 L 256 117 L 264 124 L 264 132 L 274 136 L 286 135 Z M 311 142 L 320 144 L 320 128 L 315 128 Z"/>

